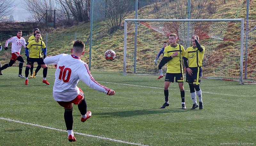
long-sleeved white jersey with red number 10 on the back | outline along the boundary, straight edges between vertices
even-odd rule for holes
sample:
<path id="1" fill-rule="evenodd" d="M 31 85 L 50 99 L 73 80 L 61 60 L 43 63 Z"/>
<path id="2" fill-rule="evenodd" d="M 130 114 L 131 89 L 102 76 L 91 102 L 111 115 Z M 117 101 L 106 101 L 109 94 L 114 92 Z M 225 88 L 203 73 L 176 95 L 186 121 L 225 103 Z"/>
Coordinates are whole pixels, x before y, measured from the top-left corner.
<path id="1" fill-rule="evenodd" d="M 96 82 L 88 65 L 74 55 L 60 54 L 46 57 L 44 63 L 47 65 L 57 64 L 53 85 L 53 98 L 56 101 L 67 102 L 75 99 L 79 94 L 79 88 L 76 86 L 79 80 L 82 80 L 90 88 L 106 94 L 110 90 Z"/>

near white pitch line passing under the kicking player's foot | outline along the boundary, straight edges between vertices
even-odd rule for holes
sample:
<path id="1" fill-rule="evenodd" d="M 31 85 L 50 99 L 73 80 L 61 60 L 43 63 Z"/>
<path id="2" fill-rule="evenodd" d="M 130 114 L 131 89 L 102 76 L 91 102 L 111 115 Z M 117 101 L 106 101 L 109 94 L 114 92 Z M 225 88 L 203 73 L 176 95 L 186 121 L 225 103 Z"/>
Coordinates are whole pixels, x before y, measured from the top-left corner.
<path id="1" fill-rule="evenodd" d="M 19 120 L 12 120 L 12 119 L 3 118 L 3 117 L 0 117 L 0 119 L 2 119 L 2 120 L 7 120 L 7 121 L 10 121 L 10 122 L 16 122 L 16 123 L 21 123 L 21 124 L 27 124 L 27 125 L 32 125 L 32 126 L 47 128 L 47 129 L 56 130 L 56 131 L 61 131 L 61 132 L 67 132 L 66 130 L 62 130 L 62 129 L 57 129 L 57 128 L 52 128 L 52 127 L 42 126 L 42 125 L 38 125 L 38 124 L 32 124 L 32 123 L 21 122 L 21 121 L 19 121 Z M 84 133 L 79 133 L 79 132 L 74 132 L 74 134 L 83 135 L 83 136 L 88 136 L 88 137 L 95 137 L 95 138 L 100 138 L 100 139 L 105 139 L 105 140 L 109 140 L 109 141 L 113 141 L 113 142 L 120 142 L 120 143 L 126 143 L 126 144 L 138 145 L 138 146 L 148 146 L 148 145 L 144 145 L 144 144 L 140 144 L 140 143 L 125 142 L 125 141 L 116 140 L 116 139 L 112 139 L 112 138 L 101 137 L 101 136 L 95 136 L 95 135 L 84 134 Z"/>

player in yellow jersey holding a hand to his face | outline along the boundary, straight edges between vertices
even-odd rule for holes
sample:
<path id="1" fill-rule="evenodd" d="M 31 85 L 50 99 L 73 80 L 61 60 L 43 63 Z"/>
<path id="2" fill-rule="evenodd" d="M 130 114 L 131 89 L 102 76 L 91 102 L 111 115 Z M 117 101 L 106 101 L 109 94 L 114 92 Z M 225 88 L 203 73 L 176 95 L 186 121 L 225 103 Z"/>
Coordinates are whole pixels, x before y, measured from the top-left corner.
<path id="1" fill-rule="evenodd" d="M 201 110 L 204 108 L 204 105 L 202 100 L 202 91 L 199 86 L 202 77 L 202 62 L 205 48 L 199 44 L 199 37 L 197 35 L 193 35 L 191 40 L 193 46 L 188 47 L 187 52 L 183 57 L 184 65 L 186 66 L 184 71 L 187 72 L 186 82 L 188 82 L 190 88 L 190 96 L 193 101 L 191 110 L 194 110 L 198 107 L 196 102 L 196 95 L 199 99 L 199 110 Z"/>

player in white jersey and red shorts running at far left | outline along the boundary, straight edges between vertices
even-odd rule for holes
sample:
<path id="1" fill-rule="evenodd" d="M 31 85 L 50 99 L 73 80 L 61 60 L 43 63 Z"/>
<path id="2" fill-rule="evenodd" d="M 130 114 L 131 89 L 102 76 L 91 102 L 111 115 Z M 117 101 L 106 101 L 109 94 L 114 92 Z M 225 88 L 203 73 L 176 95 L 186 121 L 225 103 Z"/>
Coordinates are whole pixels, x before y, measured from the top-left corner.
<path id="1" fill-rule="evenodd" d="M 22 31 L 19 30 L 18 33 L 17 33 L 17 36 L 13 36 L 11 37 L 9 40 L 7 40 L 5 42 L 5 45 L 4 45 L 4 49 L 7 50 L 8 49 L 8 44 L 11 42 L 12 43 L 12 58 L 10 60 L 9 63 L 5 64 L 4 66 L 0 67 L 0 72 L 4 69 L 6 69 L 7 67 L 10 67 L 14 64 L 14 62 L 16 60 L 20 61 L 20 64 L 19 64 L 19 77 L 20 78 L 25 78 L 22 76 L 21 72 L 22 72 L 22 67 L 23 67 L 23 63 L 24 63 L 24 59 L 21 57 L 20 55 L 20 50 L 21 50 L 21 47 L 24 46 L 24 48 L 26 48 L 26 41 L 23 37 L 21 37 L 22 35 Z"/>

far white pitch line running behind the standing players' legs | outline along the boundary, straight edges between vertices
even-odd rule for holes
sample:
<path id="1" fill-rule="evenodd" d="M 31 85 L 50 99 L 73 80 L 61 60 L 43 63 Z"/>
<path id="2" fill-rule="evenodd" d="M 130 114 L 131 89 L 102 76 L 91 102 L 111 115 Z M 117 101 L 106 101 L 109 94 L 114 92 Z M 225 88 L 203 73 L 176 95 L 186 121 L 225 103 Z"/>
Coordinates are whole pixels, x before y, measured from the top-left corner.
<path id="1" fill-rule="evenodd" d="M 7 73 L 7 74 L 14 74 L 14 73 Z M 40 75 L 38 75 L 40 76 Z M 41 76 L 42 77 L 42 76 Z M 47 76 L 48 77 L 48 76 Z M 50 76 L 49 76 L 50 77 Z M 51 77 L 54 78 L 54 77 Z M 122 84 L 122 83 L 112 83 L 112 82 L 105 82 L 105 81 L 97 81 L 101 83 L 110 83 L 110 84 L 118 84 L 118 85 L 126 85 L 126 86 L 136 86 L 136 87 L 146 87 L 146 88 L 156 88 L 156 89 L 164 89 L 159 87 L 150 87 L 150 86 L 141 86 L 141 85 L 131 85 L 131 84 Z M 169 90 L 178 90 L 178 89 L 169 89 Z M 179 90 L 180 91 L 180 90 Z M 189 90 L 185 90 L 187 92 L 190 92 Z M 212 92 L 202 92 L 202 93 L 208 93 L 208 94 L 217 94 L 217 95 L 227 95 L 227 96 L 237 96 L 237 97 L 255 97 L 256 95 L 230 95 L 230 94 L 221 94 L 221 93 L 212 93 Z"/>

